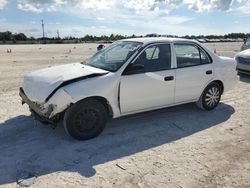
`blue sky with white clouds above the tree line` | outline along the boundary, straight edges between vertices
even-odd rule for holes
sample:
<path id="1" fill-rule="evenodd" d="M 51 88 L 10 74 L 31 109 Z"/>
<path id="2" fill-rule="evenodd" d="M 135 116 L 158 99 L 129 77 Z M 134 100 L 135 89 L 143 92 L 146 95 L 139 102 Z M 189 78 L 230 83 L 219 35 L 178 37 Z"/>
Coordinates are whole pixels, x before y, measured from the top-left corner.
<path id="1" fill-rule="evenodd" d="M 250 33 L 250 0 L 0 0 L 0 32 L 90 35 Z"/>

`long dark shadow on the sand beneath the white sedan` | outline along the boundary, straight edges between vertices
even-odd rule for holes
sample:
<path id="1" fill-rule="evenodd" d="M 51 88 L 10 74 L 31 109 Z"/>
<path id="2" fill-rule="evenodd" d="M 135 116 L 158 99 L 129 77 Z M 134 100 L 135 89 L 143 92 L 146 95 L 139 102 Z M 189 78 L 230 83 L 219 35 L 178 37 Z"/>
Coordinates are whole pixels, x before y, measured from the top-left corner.
<path id="1" fill-rule="evenodd" d="M 69 138 L 62 126 L 52 130 L 20 115 L 0 124 L 0 185 L 22 174 L 70 171 L 91 177 L 98 164 L 217 126 L 233 113 L 234 108 L 224 103 L 213 111 L 186 104 L 112 120 L 100 136 L 82 142 Z"/>

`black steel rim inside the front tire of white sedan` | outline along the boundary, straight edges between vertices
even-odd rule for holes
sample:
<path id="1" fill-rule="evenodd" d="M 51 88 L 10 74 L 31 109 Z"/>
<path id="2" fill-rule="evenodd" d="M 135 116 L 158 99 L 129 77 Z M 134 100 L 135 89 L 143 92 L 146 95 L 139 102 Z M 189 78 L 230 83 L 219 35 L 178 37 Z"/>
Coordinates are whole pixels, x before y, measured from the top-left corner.
<path id="1" fill-rule="evenodd" d="M 75 128 L 81 133 L 92 131 L 99 122 L 100 117 L 95 109 L 84 109 L 76 114 Z"/>

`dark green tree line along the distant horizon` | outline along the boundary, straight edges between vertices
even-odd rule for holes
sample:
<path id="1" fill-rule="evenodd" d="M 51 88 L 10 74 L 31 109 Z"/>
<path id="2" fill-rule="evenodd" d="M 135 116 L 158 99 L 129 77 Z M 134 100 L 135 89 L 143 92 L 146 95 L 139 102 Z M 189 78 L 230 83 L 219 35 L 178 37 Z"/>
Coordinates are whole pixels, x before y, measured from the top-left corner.
<path id="1" fill-rule="evenodd" d="M 157 34 L 149 34 L 146 36 L 161 36 Z M 175 35 L 162 35 L 167 37 L 178 37 Z M 115 35 L 111 34 L 109 36 L 102 35 L 102 36 L 94 36 L 94 35 L 85 35 L 83 37 L 64 37 L 64 38 L 34 38 L 34 37 L 27 37 L 24 33 L 12 33 L 10 31 L 6 32 L 0 32 L 0 41 L 42 41 L 42 40 L 52 40 L 60 42 L 62 40 L 77 40 L 77 41 L 90 41 L 90 42 L 96 42 L 96 41 L 116 41 L 126 38 L 135 38 L 135 37 L 143 37 L 142 35 L 136 36 L 136 35 Z M 188 38 L 188 39 L 245 39 L 247 37 L 250 37 L 250 33 L 229 33 L 225 35 L 185 35 L 181 36 L 181 38 Z"/>

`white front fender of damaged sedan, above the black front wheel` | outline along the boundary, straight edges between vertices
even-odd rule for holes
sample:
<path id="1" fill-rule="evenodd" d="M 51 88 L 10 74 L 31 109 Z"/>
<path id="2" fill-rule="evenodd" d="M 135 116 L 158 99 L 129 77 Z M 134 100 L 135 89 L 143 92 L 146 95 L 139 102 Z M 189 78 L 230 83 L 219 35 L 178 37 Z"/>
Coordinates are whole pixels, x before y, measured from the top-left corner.
<path id="1" fill-rule="evenodd" d="M 60 88 L 46 104 L 53 105 L 53 117 L 80 100 L 102 97 L 108 101 L 115 118 L 120 116 L 118 86 L 119 78 L 116 78 L 115 74 L 82 80 Z"/>

